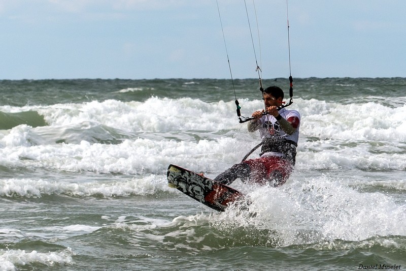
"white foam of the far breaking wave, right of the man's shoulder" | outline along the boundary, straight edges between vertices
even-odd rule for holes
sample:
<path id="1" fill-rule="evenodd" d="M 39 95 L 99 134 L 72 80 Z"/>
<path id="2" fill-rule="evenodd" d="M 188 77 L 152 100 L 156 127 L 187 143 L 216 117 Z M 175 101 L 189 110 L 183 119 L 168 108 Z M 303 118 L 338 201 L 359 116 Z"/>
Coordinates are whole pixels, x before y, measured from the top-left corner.
<path id="1" fill-rule="evenodd" d="M 389 108 L 376 102 L 363 104 L 300 101 L 306 136 L 334 140 L 406 140 L 406 105 Z"/>

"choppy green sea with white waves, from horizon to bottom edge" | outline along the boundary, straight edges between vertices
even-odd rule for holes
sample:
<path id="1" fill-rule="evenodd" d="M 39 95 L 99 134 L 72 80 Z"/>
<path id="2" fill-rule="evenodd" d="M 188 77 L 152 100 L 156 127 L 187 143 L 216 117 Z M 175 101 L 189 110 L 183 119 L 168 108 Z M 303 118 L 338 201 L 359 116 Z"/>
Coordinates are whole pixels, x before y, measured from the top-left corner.
<path id="1" fill-rule="evenodd" d="M 263 108 L 257 80 L 233 83 L 242 115 Z M 285 78 L 263 83 L 289 100 Z M 0 94 L 0 270 L 406 269 L 406 78 L 294 79 L 296 167 L 280 188 L 236 180 L 250 212 L 166 180 L 171 163 L 215 177 L 259 142 L 230 80 L 3 80 Z"/>

